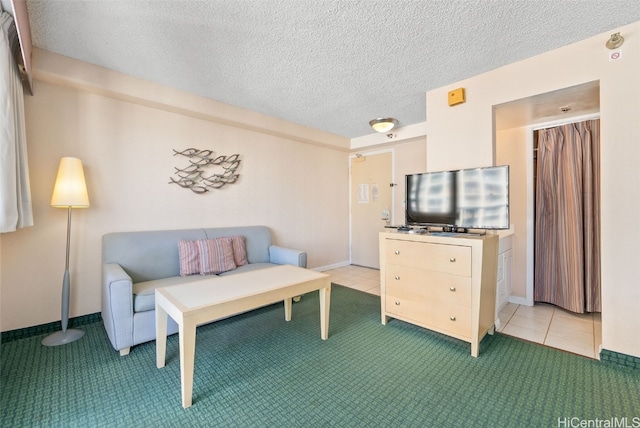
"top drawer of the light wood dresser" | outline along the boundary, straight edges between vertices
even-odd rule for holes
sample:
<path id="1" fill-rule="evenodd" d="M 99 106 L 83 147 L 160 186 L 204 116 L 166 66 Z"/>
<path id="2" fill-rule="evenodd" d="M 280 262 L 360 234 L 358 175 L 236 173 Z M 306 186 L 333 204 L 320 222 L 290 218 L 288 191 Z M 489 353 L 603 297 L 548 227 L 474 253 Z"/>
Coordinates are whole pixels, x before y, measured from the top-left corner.
<path id="1" fill-rule="evenodd" d="M 387 239 L 386 263 L 471 276 L 471 248 L 461 245 Z"/>

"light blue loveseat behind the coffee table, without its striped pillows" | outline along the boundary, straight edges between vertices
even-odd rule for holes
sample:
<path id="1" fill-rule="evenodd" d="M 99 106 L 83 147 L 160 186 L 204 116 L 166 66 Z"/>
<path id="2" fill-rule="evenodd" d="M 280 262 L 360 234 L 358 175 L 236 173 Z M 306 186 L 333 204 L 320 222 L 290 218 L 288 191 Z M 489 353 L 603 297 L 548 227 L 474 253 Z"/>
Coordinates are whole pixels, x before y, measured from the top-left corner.
<path id="1" fill-rule="evenodd" d="M 219 275 L 263 269 L 274 264 L 307 266 L 307 254 L 273 245 L 266 226 L 108 233 L 102 238 L 102 320 L 120 355 L 155 340 L 155 289 L 202 279 L 180 276 L 178 242 L 240 235 L 248 264 Z M 167 333 L 178 331 L 169 319 Z"/>

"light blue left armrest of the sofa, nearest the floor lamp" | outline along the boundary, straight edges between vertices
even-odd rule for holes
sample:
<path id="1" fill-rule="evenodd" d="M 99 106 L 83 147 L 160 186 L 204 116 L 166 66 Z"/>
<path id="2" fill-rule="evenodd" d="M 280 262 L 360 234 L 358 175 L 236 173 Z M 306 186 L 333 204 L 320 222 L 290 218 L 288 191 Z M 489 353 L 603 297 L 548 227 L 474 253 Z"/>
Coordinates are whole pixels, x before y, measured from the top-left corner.
<path id="1" fill-rule="evenodd" d="M 133 281 L 117 263 L 102 265 L 102 322 L 116 351 L 133 346 Z"/>

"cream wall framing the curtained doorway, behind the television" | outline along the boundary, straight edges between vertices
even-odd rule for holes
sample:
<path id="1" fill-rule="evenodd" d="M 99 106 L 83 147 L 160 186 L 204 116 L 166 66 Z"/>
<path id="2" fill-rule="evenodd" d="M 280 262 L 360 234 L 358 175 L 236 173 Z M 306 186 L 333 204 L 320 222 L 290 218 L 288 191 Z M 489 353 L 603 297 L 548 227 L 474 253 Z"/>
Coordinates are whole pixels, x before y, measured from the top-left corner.
<path id="1" fill-rule="evenodd" d="M 622 58 L 604 44 L 625 38 Z M 602 346 L 640 357 L 640 22 L 427 93 L 427 167 L 494 163 L 494 105 L 570 86 L 600 82 L 602 126 Z M 466 88 L 467 102 L 447 105 L 447 92 Z"/>

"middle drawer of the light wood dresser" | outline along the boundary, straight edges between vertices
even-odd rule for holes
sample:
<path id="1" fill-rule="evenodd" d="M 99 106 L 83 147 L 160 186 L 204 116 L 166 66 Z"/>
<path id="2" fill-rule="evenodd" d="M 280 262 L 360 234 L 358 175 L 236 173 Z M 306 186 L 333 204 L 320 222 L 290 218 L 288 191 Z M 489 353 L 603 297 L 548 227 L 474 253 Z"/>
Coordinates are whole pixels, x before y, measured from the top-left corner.
<path id="1" fill-rule="evenodd" d="M 394 299 L 471 308 L 471 278 L 465 276 L 387 265 L 385 288 Z"/>

